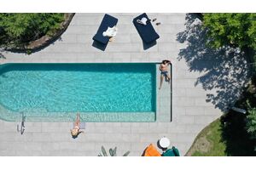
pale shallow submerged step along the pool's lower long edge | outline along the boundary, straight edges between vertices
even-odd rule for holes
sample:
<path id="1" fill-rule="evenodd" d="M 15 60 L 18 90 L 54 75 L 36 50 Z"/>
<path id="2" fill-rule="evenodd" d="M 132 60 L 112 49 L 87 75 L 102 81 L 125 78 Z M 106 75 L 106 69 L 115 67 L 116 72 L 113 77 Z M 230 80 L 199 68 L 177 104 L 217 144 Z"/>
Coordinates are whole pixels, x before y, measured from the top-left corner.
<path id="1" fill-rule="evenodd" d="M 0 118 L 8 122 L 73 122 L 77 112 L 48 112 L 44 109 L 9 111 L 0 105 Z M 81 122 L 155 122 L 155 112 L 79 112 Z M 8 117 L 8 119 L 4 119 Z"/>

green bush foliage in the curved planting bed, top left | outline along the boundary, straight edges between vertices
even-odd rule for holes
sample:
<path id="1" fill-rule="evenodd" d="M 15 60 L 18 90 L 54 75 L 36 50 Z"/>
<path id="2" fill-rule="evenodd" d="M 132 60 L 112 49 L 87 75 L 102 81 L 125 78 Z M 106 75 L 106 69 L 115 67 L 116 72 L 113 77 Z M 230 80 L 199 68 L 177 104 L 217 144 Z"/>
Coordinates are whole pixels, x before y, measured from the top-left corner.
<path id="1" fill-rule="evenodd" d="M 0 14 L 0 45 L 23 47 L 60 29 L 64 14 Z"/>

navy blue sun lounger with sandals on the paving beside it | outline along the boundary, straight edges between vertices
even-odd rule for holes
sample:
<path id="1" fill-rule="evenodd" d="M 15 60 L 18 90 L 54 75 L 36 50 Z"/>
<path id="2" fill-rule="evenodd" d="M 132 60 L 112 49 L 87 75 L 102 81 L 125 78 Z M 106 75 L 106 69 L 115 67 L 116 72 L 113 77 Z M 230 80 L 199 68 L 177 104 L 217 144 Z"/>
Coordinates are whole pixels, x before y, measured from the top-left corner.
<path id="1" fill-rule="evenodd" d="M 133 19 L 133 24 L 136 27 L 140 37 L 142 37 L 143 42 L 151 43 L 156 41 L 159 38 L 159 35 L 154 31 L 154 27 L 152 26 L 151 22 L 147 21 L 147 25 L 144 26 L 143 24 L 137 23 L 137 20 L 142 20 L 142 18 L 145 17 L 148 19 L 148 15 L 146 13 L 143 13 L 139 16 L 137 16 L 135 19 Z"/>

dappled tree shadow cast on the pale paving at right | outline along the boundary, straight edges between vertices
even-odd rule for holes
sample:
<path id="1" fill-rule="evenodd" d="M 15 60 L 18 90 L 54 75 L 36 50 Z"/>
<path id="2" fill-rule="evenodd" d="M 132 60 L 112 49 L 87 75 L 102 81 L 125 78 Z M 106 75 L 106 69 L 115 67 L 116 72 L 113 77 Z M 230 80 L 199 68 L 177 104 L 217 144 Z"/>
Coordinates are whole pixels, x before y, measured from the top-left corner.
<path id="1" fill-rule="evenodd" d="M 189 71 L 197 71 L 195 86 L 201 85 L 207 93 L 207 102 L 221 111 L 234 105 L 249 78 L 247 59 L 238 48 L 210 48 L 207 45 L 207 29 L 196 14 L 186 15 L 186 29 L 177 34 L 177 42 L 186 43 L 177 59 L 185 59 Z"/>

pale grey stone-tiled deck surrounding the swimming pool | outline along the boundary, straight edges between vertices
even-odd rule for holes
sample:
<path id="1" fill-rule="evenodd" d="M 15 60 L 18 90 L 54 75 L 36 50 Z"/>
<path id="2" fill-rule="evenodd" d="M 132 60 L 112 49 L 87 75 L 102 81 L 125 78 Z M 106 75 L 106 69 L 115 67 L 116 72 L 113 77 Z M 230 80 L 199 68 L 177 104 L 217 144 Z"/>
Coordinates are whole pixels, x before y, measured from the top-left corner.
<path id="1" fill-rule="evenodd" d="M 170 85 L 164 83 L 157 92 L 157 122 L 88 122 L 84 133 L 72 139 L 71 122 L 25 122 L 23 135 L 17 133 L 17 122 L 0 121 L 0 156 L 97 156 L 101 146 L 117 146 L 118 155 L 131 150 L 130 156 L 141 156 L 143 150 L 166 136 L 186 154 L 203 127 L 218 118 L 221 111 L 207 102 L 201 84 L 195 86 L 201 72 L 189 71 L 184 59 L 177 59 L 186 43 L 177 42 L 177 33 L 186 27 L 186 14 L 148 14 L 161 23 L 157 44 L 143 50 L 143 42 L 131 20 L 138 14 L 112 14 L 119 19 L 117 36 L 105 51 L 92 47 L 92 37 L 103 14 L 75 14 L 61 38 L 30 55 L 0 52 L 1 63 L 108 63 L 160 62 L 172 60 L 172 122 Z M 157 86 L 159 86 L 159 77 Z M 212 89 L 212 93 L 215 89 Z M 158 119 L 158 116 L 161 118 Z"/>

